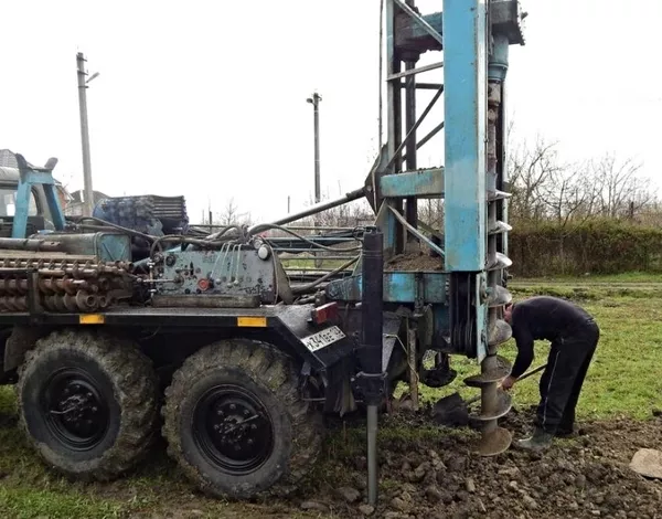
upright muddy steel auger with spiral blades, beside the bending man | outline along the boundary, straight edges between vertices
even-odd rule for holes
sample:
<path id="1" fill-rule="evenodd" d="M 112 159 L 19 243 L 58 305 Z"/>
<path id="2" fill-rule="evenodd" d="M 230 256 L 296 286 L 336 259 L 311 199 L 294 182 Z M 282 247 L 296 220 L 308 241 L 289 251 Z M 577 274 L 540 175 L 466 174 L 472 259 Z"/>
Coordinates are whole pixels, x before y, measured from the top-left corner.
<path id="1" fill-rule="evenodd" d="M 511 409 L 511 398 L 499 390 L 499 382 L 508 377 L 510 362 L 496 356 L 499 345 L 511 338 L 512 330 L 502 319 L 502 308 L 512 300 L 510 293 L 502 286 L 503 272 L 511 261 L 498 250 L 498 237 L 506 233 L 510 226 L 496 219 L 496 204 L 508 198 L 496 189 L 496 120 L 501 104 L 501 88 L 490 82 L 488 96 L 488 352 L 481 363 L 481 373 L 465 382 L 481 390 L 480 415 L 482 437 L 479 452 L 483 456 L 494 456 L 508 449 L 512 437 L 509 431 L 499 427 L 498 420 Z"/>

